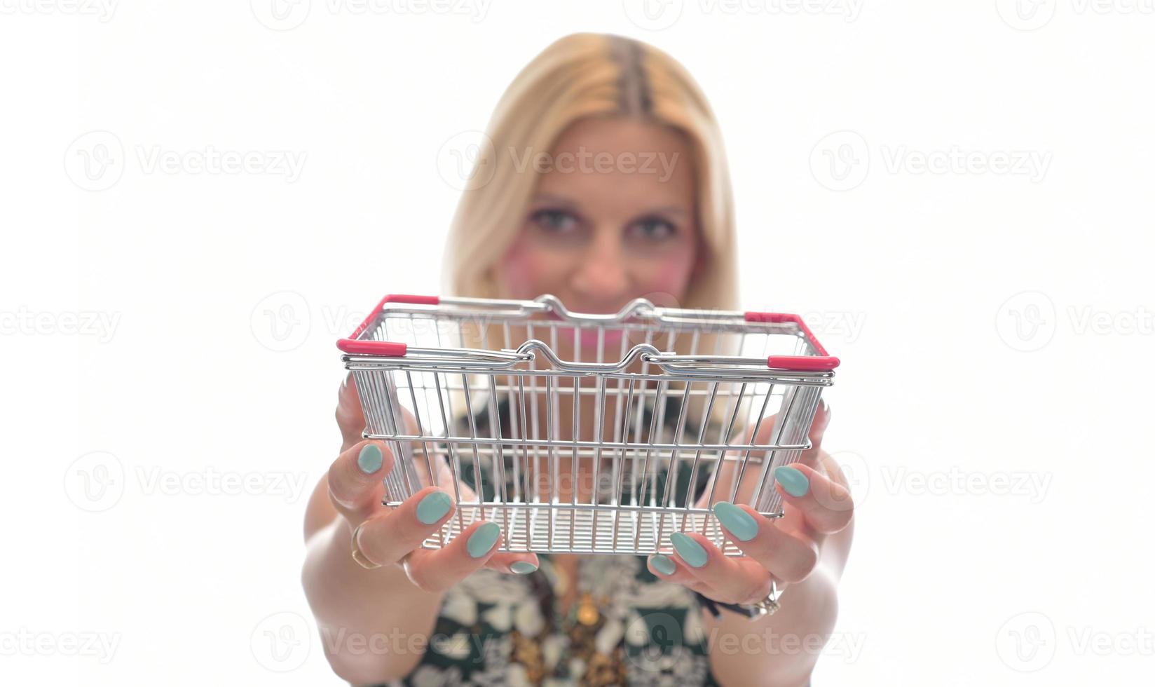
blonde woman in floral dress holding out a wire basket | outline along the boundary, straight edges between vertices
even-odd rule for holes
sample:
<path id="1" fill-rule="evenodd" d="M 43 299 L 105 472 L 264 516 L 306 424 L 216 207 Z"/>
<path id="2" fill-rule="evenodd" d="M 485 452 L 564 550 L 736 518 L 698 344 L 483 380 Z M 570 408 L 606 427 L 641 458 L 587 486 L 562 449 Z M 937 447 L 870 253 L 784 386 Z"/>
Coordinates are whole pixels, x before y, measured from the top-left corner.
<path id="1" fill-rule="evenodd" d="M 736 309 L 721 136 L 671 58 L 616 36 L 562 38 L 516 77 L 487 134 L 490 166 L 475 170 L 448 242 L 449 293 L 552 293 L 588 313 L 639 297 Z M 574 351 L 562 342 L 558 353 Z M 808 684 L 852 529 L 845 479 L 820 450 L 825 406 L 814 448 L 775 472 L 784 517 L 731 507 L 723 518 L 728 505 L 711 503 L 742 559 L 698 535 L 649 559 L 499 552 L 497 523 L 419 548 L 452 498 L 429 486 L 381 507 L 393 457 L 362 440 L 348 380 L 336 415 L 344 442 L 308 505 L 303 577 L 326 655 L 350 682 Z M 773 615 L 710 608 L 762 602 L 772 580 Z"/>

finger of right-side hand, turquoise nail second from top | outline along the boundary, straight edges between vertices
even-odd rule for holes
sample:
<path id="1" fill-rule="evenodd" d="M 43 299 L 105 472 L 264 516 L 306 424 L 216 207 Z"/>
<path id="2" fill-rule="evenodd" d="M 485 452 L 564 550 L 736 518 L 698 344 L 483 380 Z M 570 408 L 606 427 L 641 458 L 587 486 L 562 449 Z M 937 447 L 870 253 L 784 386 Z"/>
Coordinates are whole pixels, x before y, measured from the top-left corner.
<path id="1" fill-rule="evenodd" d="M 817 542 L 792 536 L 750 506 L 720 501 L 714 515 L 743 553 L 783 582 L 802 582 L 818 565 Z"/>

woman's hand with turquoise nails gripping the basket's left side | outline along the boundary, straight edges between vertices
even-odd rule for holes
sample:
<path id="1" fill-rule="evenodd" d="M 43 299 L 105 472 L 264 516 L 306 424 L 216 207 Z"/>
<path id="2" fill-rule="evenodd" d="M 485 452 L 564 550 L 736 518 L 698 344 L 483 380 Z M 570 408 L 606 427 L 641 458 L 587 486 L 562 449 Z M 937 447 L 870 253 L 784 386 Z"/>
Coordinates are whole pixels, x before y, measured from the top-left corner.
<path id="1" fill-rule="evenodd" d="M 405 415 L 407 423 L 416 426 Z M 426 486 L 396 508 L 382 506 L 382 479 L 393 470 L 394 457 L 383 441 L 362 439 L 365 415 L 352 375 L 342 384 L 336 417 L 343 442 L 341 455 L 329 466 L 329 501 L 348 523 L 350 536 L 357 533 L 357 546 L 370 562 L 401 565 L 417 588 L 433 592 L 445 591 L 483 567 L 514 573 L 511 566 L 524 561 L 537 568 L 534 553 L 497 551 L 502 532 L 495 522 L 475 522 L 444 548 L 422 548 L 454 516 L 453 476 L 445 461 L 435 466 L 435 484 L 448 488 Z M 460 494 L 464 501 L 476 501 L 465 485 Z M 517 568 L 531 572 L 528 566 Z"/>

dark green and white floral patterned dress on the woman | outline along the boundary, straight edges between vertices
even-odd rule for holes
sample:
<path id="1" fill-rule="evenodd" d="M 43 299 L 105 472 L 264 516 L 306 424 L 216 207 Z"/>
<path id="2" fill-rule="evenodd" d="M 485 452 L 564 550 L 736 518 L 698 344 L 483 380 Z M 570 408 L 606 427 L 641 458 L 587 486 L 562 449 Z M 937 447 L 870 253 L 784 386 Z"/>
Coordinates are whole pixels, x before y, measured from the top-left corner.
<path id="1" fill-rule="evenodd" d="M 505 403 L 499 413 L 508 417 Z M 649 426 L 650 413 L 647 406 L 643 427 Z M 676 402 L 665 408 L 664 416 L 666 425 L 676 421 Z M 485 415 L 478 413 L 475 423 L 478 435 L 487 435 Z M 501 426 L 509 425 L 502 421 Z M 482 460 L 484 475 L 489 458 Z M 506 475 L 511 472 L 507 469 Z M 681 495 L 690 486 L 686 472 L 677 473 L 675 491 Z M 472 470 L 462 473 L 476 490 Z M 708 479 L 706 470 L 698 475 L 695 494 Z M 664 490 L 664 477 L 655 487 L 660 493 Z M 480 491 L 492 498 L 492 485 L 482 485 Z M 576 557 L 575 578 L 550 554 L 539 553 L 538 559 L 541 567 L 528 575 L 482 569 L 447 591 L 422 662 L 394 684 L 717 684 L 710 672 L 701 605 L 688 589 L 657 580 L 644 557 Z M 575 603 L 562 604 L 564 597 Z"/>

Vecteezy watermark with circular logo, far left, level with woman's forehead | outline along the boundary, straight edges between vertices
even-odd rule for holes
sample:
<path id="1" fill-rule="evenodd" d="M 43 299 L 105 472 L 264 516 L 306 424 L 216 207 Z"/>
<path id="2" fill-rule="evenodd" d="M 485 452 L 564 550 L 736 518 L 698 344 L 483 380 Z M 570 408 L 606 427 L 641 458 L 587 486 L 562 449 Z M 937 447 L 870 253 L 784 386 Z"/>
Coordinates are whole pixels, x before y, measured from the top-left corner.
<path id="1" fill-rule="evenodd" d="M 305 151 L 229 150 L 215 145 L 192 150 L 134 145 L 133 152 L 144 174 L 270 176 L 289 184 L 300 179 L 306 158 Z M 65 172 L 84 191 L 111 188 L 120 181 L 127 164 L 124 144 L 111 132 L 81 134 L 65 151 Z"/>

